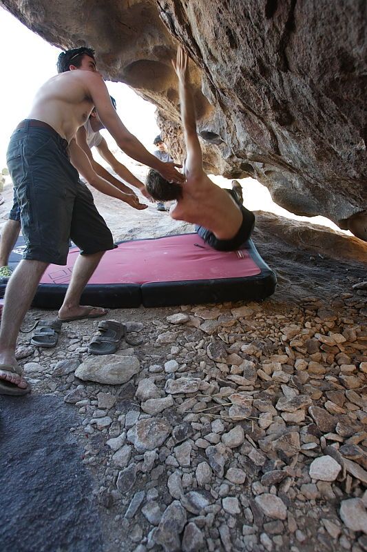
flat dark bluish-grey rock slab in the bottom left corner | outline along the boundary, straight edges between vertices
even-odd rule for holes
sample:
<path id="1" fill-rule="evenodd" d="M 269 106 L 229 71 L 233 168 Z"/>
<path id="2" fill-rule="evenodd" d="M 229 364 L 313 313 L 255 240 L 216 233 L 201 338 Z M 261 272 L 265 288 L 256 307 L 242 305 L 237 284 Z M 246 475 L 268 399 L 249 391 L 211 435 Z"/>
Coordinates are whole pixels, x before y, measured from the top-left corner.
<path id="1" fill-rule="evenodd" d="M 100 552 L 92 477 L 58 397 L 0 397 L 1 552 Z"/>

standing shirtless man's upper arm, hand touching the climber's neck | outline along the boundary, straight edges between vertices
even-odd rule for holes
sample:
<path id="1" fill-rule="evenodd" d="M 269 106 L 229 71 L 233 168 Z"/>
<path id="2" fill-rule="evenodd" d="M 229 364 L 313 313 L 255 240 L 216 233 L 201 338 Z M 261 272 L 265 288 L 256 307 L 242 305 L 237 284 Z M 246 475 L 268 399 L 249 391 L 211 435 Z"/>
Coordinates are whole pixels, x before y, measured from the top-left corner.
<path id="1" fill-rule="evenodd" d="M 92 101 L 98 111 L 99 118 L 103 122 L 103 126 L 105 126 L 114 137 L 116 144 L 129 155 L 129 157 L 157 170 L 165 179 L 178 182 L 178 184 L 185 181 L 185 177 L 175 169 L 175 166 L 179 165 L 175 165 L 174 163 L 163 163 L 154 157 L 154 155 L 151 155 L 143 144 L 127 130 L 112 106 L 107 87 L 101 75 L 89 71 L 85 71 L 85 73 L 87 73 L 87 75 L 83 75 L 83 77 L 85 78 L 85 85 L 87 86 L 86 92 L 92 97 Z"/>

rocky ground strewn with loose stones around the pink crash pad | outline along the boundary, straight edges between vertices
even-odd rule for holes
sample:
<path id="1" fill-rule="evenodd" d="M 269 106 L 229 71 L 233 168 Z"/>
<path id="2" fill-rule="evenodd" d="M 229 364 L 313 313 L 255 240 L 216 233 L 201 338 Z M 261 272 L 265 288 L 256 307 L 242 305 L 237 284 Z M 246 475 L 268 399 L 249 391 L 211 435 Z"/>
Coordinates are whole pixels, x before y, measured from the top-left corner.
<path id="1" fill-rule="evenodd" d="M 116 238 L 186 228 L 150 207 L 123 208 L 121 230 L 120 204 L 96 197 Z M 279 279 L 262 303 L 111 311 L 143 344 L 108 357 L 87 353 L 97 322 L 64 324 L 50 350 L 21 335 L 32 395 L 0 399 L 3 430 L 23 408 L 1 473 L 14 501 L 19 466 L 43 483 L 6 518 L 5 552 L 367 551 L 366 244 L 266 213 L 254 241 Z"/>

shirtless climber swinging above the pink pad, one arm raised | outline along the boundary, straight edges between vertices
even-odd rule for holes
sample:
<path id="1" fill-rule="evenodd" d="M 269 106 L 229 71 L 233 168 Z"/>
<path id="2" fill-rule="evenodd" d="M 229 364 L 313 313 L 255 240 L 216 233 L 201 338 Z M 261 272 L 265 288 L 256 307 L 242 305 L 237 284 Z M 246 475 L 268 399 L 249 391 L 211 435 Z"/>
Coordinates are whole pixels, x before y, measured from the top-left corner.
<path id="1" fill-rule="evenodd" d="M 196 231 L 209 246 L 220 251 L 236 250 L 249 239 L 255 217 L 239 201 L 235 201 L 233 190 L 219 188 L 205 175 L 196 132 L 189 59 L 182 48 L 178 48 L 176 62 L 172 63 L 178 76 L 181 119 L 187 149 L 186 182 L 170 184 L 156 170 L 149 170 L 145 183 L 147 190 L 158 201 L 176 199 L 176 206 L 170 210 L 171 217 L 196 224 Z"/>

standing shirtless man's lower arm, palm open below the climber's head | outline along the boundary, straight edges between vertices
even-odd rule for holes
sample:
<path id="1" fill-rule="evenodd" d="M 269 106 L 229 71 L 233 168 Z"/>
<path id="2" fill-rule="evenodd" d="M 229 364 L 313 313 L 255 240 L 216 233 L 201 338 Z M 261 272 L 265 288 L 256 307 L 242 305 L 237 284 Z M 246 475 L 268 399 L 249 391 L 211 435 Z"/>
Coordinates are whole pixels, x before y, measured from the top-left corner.
<path id="1" fill-rule="evenodd" d="M 134 209 L 147 208 L 147 205 L 139 203 L 136 195 L 121 192 L 121 190 L 118 190 L 116 186 L 112 186 L 112 184 L 109 184 L 107 180 L 97 175 L 90 164 L 90 160 L 82 148 L 78 146 L 75 138 L 73 138 L 69 144 L 69 151 L 70 161 L 76 170 L 85 178 L 85 180 L 87 180 L 87 182 L 90 183 L 91 186 L 96 188 L 96 190 L 102 192 L 103 194 L 109 195 L 110 197 L 116 197 L 116 199 L 125 201 L 125 203 L 134 207 Z"/>

